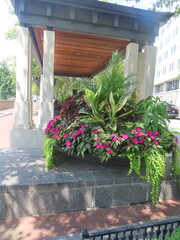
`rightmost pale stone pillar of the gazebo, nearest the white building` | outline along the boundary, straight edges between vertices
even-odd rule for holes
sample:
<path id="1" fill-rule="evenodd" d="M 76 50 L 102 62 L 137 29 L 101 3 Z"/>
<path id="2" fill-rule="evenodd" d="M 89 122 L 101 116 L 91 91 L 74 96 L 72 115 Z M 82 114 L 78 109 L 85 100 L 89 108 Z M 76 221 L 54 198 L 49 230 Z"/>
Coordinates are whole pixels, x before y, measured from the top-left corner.
<path id="1" fill-rule="evenodd" d="M 157 47 L 145 46 L 144 52 L 139 53 L 137 95 L 145 99 L 153 95 Z"/>

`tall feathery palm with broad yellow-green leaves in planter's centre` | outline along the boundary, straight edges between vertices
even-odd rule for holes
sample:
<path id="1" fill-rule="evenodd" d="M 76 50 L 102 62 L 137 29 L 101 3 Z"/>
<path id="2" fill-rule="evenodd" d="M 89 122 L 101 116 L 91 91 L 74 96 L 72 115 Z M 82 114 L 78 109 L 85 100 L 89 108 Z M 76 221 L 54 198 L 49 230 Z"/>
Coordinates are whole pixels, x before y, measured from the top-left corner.
<path id="1" fill-rule="evenodd" d="M 119 112 L 131 97 L 135 86 L 133 75 L 125 77 L 124 71 L 124 53 L 115 52 L 106 70 L 96 76 L 94 82 L 88 82 L 88 79 L 79 81 L 86 86 L 85 99 L 90 108 L 90 112 L 81 110 L 86 114 L 86 119 L 83 116 L 86 122 L 101 123 L 106 130 L 116 131 L 117 117 L 121 117 Z"/>

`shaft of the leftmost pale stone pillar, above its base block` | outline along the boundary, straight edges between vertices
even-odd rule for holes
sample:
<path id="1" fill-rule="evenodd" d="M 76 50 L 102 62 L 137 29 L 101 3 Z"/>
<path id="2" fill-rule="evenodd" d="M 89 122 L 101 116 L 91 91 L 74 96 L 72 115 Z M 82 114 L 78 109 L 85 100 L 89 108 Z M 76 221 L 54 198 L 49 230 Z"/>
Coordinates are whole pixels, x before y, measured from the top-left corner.
<path id="1" fill-rule="evenodd" d="M 32 126 L 31 38 L 27 27 L 17 27 L 16 101 L 13 129 Z"/>

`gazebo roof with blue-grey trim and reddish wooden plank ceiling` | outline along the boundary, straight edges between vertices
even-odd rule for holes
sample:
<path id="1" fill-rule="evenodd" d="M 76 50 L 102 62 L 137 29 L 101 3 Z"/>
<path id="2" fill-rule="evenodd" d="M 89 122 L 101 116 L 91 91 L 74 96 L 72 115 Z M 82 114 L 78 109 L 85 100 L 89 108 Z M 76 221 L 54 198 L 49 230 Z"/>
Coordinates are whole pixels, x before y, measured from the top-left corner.
<path id="1" fill-rule="evenodd" d="M 55 31 L 56 75 L 92 76 L 115 50 L 129 42 L 153 44 L 171 13 L 124 7 L 96 0 L 12 0 L 21 25 L 28 26 L 43 65 L 43 30 Z"/>

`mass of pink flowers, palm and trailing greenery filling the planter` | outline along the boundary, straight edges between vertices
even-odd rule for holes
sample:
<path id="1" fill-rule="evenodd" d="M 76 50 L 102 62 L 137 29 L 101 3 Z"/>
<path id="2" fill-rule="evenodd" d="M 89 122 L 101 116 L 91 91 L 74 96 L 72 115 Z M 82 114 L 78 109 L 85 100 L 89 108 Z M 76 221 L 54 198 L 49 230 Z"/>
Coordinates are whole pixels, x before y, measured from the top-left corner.
<path id="1" fill-rule="evenodd" d="M 55 167 L 59 147 L 71 155 L 95 154 L 101 161 L 126 156 L 128 174 L 135 171 L 151 184 L 156 204 L 170 152 L 174 175 L 180 176 L 178 140 L 168 130 L 167 112 L 160 99 L 136 100 L 134 82 L 124 77 L 121 57 L 115 54 L 107 70 L 88 83 L 84 92 L 65 100 L 59 114 L 49 121 L 44 141 L 46 166 Z"/>

